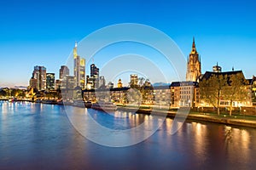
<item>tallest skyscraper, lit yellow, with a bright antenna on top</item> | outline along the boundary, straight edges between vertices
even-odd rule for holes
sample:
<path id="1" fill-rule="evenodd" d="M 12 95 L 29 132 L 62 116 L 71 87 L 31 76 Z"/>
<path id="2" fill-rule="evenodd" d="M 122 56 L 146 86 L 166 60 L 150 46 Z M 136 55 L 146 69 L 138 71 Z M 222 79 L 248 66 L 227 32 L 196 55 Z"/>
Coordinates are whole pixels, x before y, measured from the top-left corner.
<path id="1" fill-rule="evenodd" d="M 84 88 L 85 85 L 85 59 L 81 58 L 78 54 L 78 44 L 75 43 L 75 47 L 73 48 L 73 61 L 74 61 L 74 87 Z"/>

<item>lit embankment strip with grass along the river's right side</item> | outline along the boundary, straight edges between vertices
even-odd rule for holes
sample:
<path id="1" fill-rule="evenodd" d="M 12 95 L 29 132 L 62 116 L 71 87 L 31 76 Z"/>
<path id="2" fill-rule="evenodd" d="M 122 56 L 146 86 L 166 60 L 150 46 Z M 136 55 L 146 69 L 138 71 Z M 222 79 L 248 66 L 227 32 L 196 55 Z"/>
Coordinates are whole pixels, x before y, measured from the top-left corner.
<path id="1" fill-rule="evenodd" d="M 152 109 L 139 109 L 132 107 L 119 107 L 119 111 L 134 111 L 137 114 L 150 114 Z M 165 110 L 155 110 L 158 114 L 167 117 L 175 116 L 186 116 L 186 115 L 177 115 L 177 111 L 165 111 Z M 214 113 L 203 113 L 203 112 L 193 112 L 190 111 L 187 116 L 188 120 L 203 121 L 203 122 L 215 122 L 225 125 L 232 126 L 242 126 L 242 127 L 254 127 L 256 128 L 256 116 L 243 116 L 243 115 L 233 115 L 229 116 L 226 114 L 216 115 Z"/>

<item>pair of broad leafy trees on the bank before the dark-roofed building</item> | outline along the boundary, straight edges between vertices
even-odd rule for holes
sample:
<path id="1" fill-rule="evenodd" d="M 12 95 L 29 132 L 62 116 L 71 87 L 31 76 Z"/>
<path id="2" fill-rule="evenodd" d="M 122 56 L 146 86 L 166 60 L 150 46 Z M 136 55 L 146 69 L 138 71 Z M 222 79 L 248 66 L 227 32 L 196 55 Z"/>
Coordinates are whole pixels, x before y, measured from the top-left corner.
<path id="1" fill-rule="evenodd" d="M 200 83 L 200 98 L 217 108 L 219 115 L 220 100 L 230 102 L 230 116 L 232 115 L 233 101 L 244 102 L 249 98 L 248 82 L 242 73 L 223 75 L 212 74 Z"/>

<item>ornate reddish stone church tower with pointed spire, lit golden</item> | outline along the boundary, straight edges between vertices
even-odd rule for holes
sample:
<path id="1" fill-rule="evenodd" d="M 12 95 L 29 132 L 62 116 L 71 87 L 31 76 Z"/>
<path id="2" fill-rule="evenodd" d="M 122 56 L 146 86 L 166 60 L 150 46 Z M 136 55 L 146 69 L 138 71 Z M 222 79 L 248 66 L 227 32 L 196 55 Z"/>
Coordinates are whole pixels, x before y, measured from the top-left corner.
<path id="1" fill-rule="evenodd" d="M 193 37 L 192 50 L 189 54 L 186 81 L 198 82 L 201 76 L 201 59 L 195 48 L 195 38 Z"/>

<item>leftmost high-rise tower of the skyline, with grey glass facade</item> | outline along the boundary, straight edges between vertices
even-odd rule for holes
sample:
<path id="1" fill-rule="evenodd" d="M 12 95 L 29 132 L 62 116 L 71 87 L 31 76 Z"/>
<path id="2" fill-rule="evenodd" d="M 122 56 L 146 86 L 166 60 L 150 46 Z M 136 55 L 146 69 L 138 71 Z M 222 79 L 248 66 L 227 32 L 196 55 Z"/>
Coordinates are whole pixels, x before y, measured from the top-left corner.
<path id="1" fill-rule="evenodd" d="M 32 84 L 34 88 L 38 88 L 38 90 L 45 90 L 46 68 L 44 66 L 34 66 L 34 71 L 32 72 L 32 79 Z"/>

